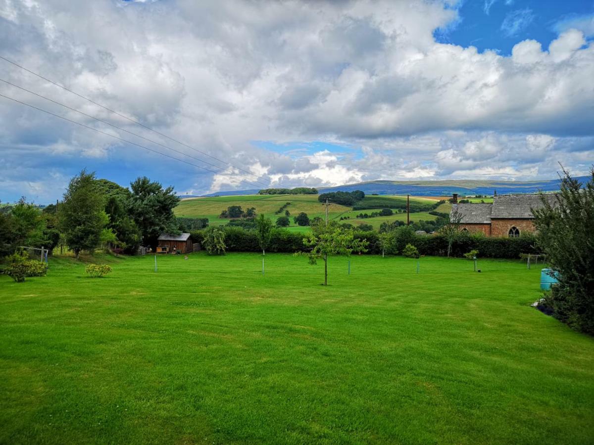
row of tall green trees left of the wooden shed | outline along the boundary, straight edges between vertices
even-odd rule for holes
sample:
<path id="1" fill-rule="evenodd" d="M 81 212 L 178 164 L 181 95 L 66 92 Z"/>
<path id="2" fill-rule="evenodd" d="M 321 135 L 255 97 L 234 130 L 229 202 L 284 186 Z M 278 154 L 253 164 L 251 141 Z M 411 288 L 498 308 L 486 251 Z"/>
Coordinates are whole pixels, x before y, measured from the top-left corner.
<path id="1" fill-rule="evenodd" d="M 24 198 L 7 207 L 0 216 L 0 254 L 8 255 L 16 246 L 51 251 L 58 245 L 77 257 L 101 246 L 134 253 L 140 243 L 156 246 L 162 232 L 179 233 L 173 215 L 178 202 L 173 187 L 164 189 L 147 177 L 127 189 L 83 170 L 70 180 L 62 201 L 43 211 Z"/>

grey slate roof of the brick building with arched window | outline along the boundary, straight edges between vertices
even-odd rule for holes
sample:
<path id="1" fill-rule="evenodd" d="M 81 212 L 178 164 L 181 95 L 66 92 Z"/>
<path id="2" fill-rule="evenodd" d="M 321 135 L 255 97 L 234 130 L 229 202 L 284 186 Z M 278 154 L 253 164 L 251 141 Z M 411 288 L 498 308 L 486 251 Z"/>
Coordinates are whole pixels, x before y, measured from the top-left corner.
<path id="1" fill-rule="evenodd" d="M 554 194 L 545 196 L 551 205 L 555 205 L 557 200 Z M 499 195 L 493 198 L 493 204 L 457 204 L 462 224 L 491 224 L 491 219 L 532 220 L 532 209 L 541 207 L 539 195 Z M 454 208 L 456 206 L 452 206 L 452 211 Z"/>

